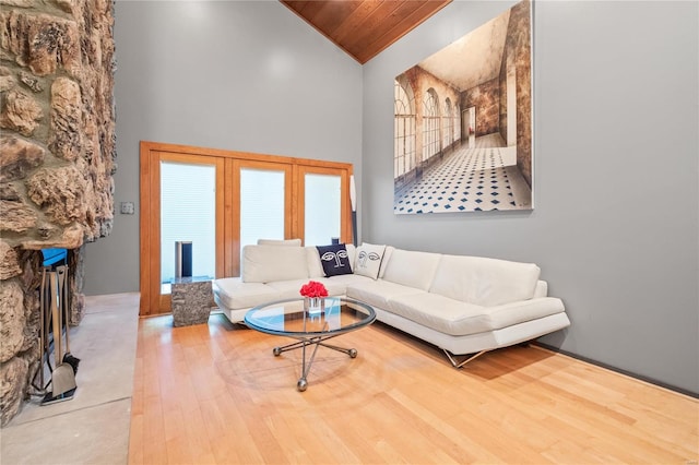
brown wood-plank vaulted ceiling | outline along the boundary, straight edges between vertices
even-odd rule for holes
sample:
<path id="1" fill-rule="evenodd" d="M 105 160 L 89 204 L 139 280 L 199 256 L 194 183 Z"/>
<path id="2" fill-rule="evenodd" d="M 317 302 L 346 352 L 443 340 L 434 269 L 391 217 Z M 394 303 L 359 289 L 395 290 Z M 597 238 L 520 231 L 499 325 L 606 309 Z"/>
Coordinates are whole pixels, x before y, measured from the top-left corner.
<path id="1" fill-rule="evenodd" d="M 364 64 L 452 0 L 281 0 Z"/>

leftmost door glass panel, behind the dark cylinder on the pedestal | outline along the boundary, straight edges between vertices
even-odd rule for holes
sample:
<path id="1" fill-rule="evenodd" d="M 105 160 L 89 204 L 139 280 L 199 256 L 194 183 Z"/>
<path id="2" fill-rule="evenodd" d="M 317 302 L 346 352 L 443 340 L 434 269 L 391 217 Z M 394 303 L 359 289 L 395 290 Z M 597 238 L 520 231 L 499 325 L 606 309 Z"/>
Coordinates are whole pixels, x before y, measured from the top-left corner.
<path id="1" fill-rule="evenodd" d="M 175 242 L 192 242 L 192 276 L 216 274 L 216 167 L 161 162 L 161 283 L 175 277 Z"/>

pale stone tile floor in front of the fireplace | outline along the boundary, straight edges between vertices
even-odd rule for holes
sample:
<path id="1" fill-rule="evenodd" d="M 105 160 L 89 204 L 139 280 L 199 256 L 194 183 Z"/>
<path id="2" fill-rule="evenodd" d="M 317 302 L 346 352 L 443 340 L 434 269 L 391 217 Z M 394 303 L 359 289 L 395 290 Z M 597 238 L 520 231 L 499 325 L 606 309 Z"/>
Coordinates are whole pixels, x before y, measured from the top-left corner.
<path id="1" fill-rule="evenodd" d="M 75 396 L 25 403 L 0 430 L 0 463 L 126 464 L 138 329 L 138 293 L 86 297 L 83 321 L 70 333 L 81 359 Z"/>

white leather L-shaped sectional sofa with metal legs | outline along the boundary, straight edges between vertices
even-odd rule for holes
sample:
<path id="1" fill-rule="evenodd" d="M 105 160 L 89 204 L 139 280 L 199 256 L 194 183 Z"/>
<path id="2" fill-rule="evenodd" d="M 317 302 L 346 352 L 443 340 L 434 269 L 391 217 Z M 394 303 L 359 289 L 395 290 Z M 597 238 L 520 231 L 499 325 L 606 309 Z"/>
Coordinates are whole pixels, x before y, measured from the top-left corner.
<path id="1" fill-rule="evenodd" d="M 377 320 L 438 346 L 454 367 L 570 325 L 532 263 L 375 245 L 335 249 L 321 254 L 300 240 L 246 246 L 241 276 L 215 279 L 214 300 L 237 323 L 250 308 L 300 298 L 301 285 L 318 281 L 331 296 L 367 302 Z M 344 261 L 346 274 L 325 276 L 321 255 L 331 274 Z"/>

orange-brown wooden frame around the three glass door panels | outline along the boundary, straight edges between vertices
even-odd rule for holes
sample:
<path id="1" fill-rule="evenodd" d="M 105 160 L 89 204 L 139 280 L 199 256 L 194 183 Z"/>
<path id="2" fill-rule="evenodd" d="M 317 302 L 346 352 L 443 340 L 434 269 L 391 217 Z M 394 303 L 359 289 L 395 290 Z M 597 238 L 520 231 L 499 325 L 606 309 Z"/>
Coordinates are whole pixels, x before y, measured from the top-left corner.
<path id="1" fill-rule="evenodd" d="M 165 159 L 212 160 L 216 166 L 216 277 L 238 276 L 240 273 L 240 215 L 239 168 L 280 167 L 286 176 L 291 172 L 289 186 L 285 188 L 285 207 L 289 219 L 285 222 L 285 238 L 304 237 L 303 223 L 303 175 L 324 172 L 341 176 L 341 241 L 352 241 L 350 205 L 350 178 L 353 166 L 347 163 L 313 160 L 307 158 L 264 155 L 249 152 L 233 152 L 189 145 L 141 141 L 140 143 L 140 315 L 147 317 L 169 312 L 169 296 L 161 294 L 161 169 Z M 218 175 L 222 172 L 223 175 Z M 221 213 L 221 214 L 220 214 Z M 299 219 L 300 218 L 300 219 Z"/>

